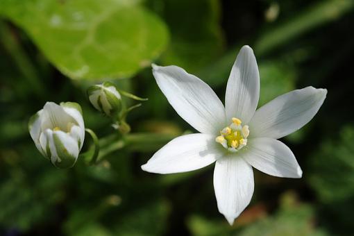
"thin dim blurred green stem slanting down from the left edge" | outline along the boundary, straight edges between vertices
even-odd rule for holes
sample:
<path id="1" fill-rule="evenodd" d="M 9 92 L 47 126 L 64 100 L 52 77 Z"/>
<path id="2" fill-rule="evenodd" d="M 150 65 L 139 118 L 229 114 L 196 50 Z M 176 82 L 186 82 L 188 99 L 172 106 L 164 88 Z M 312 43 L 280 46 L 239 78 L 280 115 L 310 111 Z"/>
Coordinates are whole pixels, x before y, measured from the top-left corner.
<path id="1" fill-rule="evenodd" d="M 30 58 L 26 55 L 21 45 L 15 39 L 10 28 L 0 21 L 0 37 L 3 48 L 11 56 L 13 62 L 17 65 L 26 81 L 31 85 L 36 94 L 44 96 L 43 83 L 40 81 L 40 76 L 37 70 L 32 65 Z"/>

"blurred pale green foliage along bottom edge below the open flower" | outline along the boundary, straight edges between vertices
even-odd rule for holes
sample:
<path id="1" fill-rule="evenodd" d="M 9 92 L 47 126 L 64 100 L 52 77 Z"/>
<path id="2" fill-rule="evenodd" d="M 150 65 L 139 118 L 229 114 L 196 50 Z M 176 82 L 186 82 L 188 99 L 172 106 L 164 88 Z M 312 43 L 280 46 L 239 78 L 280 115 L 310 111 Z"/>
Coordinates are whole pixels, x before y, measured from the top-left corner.
<path id="1" fill-rule="evenodd" d="M 262 208 L 260 208 L 262 209 Z M 287 192 L 280 199 L 280 206 L 272 216 L 253 212 L 253 215 L 259 214 L 260 219 L 255 219 L 246 226 L 228 227 L 226 224 L 220 224 L 218 221 L 208 221 L 203 217 L 191 217 L 189 228 L 193 235 L 317 235 L 323 236 L 326 233 L 323 230 L 314 228 L 314 212 L 310 205 L 298 203 L 294 192 Z"/>

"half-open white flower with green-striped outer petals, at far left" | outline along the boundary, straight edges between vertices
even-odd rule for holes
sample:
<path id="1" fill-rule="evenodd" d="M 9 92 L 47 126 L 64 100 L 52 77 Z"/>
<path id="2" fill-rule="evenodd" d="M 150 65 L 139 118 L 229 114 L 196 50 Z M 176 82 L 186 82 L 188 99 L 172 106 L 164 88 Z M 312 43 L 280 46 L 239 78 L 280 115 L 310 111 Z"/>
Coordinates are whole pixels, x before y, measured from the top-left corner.
<path id="1" fill-rule="evenodd" d="M 85 126 L 78 103 L 47 102 L 31 117 L 28 130 L 37 149 L 59 168 L 72 167 L 83 147 Z"/>

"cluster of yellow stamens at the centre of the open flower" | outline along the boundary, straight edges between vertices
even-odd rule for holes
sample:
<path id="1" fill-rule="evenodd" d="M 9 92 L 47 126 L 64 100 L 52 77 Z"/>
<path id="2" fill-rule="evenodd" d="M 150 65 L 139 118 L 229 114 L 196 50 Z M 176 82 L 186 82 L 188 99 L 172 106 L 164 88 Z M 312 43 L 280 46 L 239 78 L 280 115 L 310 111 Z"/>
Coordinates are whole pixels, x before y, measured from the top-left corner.
<path id="1" fill-rule="evenodd" d="M 239 151 L 247 145 L 249 135 L 248 126 L 242 126 L 242 121 L 233 117 L 233 122 L 220 131 L 220 136 L 215 138 L 228 151 Z"/>

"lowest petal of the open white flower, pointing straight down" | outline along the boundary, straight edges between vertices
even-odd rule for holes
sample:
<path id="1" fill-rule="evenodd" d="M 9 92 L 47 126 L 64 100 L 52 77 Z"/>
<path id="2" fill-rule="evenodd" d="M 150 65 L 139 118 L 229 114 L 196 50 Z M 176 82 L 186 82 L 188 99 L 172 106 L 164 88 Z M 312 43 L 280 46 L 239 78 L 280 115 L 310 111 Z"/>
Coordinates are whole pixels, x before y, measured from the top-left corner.
<path id="1" fill-rule="evenodd" d="M 250 203 L 253 189 L 252 167 L 240 156 L 227 156 L 217 160 L 214 169 L 217 207 L 230 225 Z"/>

